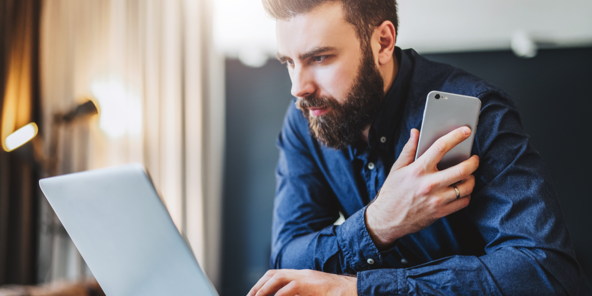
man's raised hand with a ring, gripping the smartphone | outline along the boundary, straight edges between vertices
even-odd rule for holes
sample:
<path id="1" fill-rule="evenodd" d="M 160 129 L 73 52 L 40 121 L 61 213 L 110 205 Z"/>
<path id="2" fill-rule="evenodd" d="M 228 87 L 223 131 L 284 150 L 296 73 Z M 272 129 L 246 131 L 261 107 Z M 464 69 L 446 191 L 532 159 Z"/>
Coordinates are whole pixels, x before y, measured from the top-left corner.
<path id="1" fill-rule="evenodd" d="M 457 128 L 438 139 L 414 162 L 419 131 L 411 130 L 411 137 L 392 165 L 378 197 L 366 208 L 366 227 L 379 249 L 469 205 L 475 186 L 472 173 L 479 166 L 479 157 L 471 156 L 441 171 L 436 165 L 446 152 L 470 135 L 470 128 Z M 456 198 L 453 184 L 461 198 Z"/>

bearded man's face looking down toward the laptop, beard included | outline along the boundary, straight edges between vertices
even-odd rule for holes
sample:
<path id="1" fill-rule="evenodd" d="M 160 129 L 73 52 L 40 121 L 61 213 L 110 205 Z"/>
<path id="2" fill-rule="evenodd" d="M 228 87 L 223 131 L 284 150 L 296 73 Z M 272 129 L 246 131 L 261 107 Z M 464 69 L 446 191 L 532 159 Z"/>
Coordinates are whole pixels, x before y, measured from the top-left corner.
<path id="1" fill-rule="evenodd" d="M 278 59 L 287 63 L 292 95 L 317 139 L 342 149 L 360 139 L 384 98 L 368 46 L 360 46 L 339 1 L 277 21 Z M 368 47 L 368 48 L 366 48 Z"/>

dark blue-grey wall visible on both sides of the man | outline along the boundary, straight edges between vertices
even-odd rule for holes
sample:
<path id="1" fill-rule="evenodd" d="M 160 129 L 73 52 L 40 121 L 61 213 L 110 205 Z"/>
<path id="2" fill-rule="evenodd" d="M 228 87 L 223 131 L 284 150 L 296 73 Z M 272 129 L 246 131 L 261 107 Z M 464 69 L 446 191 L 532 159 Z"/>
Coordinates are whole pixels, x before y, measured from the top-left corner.
<path id="1" fill-rule="evenodd" d="M 578 259 L 590 277 L 592 49 L 542 50 L 533 59 L 511 52 L 427 57 L 474 73 L 514 98 L 523 126 L 551 172 Z M 268 269 L 275 139 L 290 87 L 287 70 L 275 60 L 258 69 L 226 61 L 224 296 L 246 295 Z"/>

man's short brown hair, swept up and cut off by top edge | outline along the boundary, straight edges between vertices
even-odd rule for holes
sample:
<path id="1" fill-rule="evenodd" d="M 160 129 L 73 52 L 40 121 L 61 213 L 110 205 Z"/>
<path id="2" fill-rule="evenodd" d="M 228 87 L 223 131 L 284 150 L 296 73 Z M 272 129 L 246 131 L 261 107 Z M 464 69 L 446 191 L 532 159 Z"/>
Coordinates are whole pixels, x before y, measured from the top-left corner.
<path id="1" fill-rule="evenodd" d="M 369 46 L 374 29 L 391 21 L 398 33 L 396 0 L 262 0 L 265 11 L 276 20 L 289 20 L 329 1 L 341 1 L 346 21 L 353 25 L 361 46 Z"/>

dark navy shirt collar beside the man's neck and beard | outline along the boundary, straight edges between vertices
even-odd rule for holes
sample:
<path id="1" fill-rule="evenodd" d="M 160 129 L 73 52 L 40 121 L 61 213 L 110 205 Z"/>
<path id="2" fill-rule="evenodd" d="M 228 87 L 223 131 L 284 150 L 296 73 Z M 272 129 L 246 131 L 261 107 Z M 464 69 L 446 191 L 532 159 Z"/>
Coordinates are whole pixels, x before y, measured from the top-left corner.
<path id="1" fill-rule="evenodd" d="M 412 72 L 411 60 L 399 47 L 395 47 L 395 57 L 399 62 L 397 77 L 392 82 L 368 134 L 368 146 L 372 150 L 376 147 L 386 149 L 391 145 L 395 137 L 394 132 L 398 130 L 397 127 L 401 123 L 403 107 L 407 101 Z"/>

